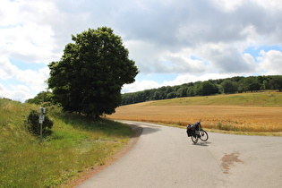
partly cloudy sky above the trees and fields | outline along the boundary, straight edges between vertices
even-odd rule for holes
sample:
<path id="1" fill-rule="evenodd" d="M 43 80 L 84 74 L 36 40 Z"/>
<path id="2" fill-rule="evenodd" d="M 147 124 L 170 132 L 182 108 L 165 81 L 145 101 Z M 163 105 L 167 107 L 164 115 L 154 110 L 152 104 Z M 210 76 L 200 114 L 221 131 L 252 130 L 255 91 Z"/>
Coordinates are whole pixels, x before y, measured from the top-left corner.
<path id="1" fill-rule="evenodd" d="M 280 0 L 1 0 L 0 98 L 47 90 L 72 35 L 107 26 L 140 73 L 122 92 L 282 74 Z"/>

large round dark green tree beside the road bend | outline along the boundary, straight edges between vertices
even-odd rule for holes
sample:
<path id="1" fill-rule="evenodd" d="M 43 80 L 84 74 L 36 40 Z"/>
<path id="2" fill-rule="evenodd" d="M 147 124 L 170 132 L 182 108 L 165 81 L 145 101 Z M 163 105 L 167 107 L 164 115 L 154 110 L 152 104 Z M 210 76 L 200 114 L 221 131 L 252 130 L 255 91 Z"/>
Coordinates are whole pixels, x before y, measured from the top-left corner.
<path id="1" fill-rule="evenodd" d="M 58 62 L 50 63 L 48 86 L 64 111 L 86 115 L 115 112 L 121 89 L 139 73 L 122 38 L 107 27 L 85 30 L 67 44 Z"/>

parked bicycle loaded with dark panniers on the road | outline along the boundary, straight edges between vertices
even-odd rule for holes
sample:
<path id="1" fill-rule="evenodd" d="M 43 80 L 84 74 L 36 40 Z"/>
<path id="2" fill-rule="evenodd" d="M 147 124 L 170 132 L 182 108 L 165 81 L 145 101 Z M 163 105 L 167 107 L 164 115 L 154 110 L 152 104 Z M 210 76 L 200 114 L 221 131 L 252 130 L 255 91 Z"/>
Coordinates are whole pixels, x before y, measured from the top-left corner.
<path id="1" fill-rule="evenodd" d="M 201 141 L 208 141 L 209 135 L 201 127 L 201 121 L 194 124 L 187 124 L 187 135 L 191 137 L 193 143 L 197 143 L 200 139 Z"/>

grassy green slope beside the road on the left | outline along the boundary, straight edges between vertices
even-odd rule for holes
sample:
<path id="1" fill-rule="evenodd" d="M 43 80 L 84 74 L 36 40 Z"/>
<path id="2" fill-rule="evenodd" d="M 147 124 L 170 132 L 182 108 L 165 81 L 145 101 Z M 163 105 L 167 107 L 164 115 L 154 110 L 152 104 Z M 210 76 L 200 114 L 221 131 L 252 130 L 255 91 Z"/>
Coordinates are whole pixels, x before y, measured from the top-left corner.
<path id="1" fill-rule="evenodd" d="M 23 124 L 38 106 L 0 99 L 0 184 L 3 187 L 54 187 L 86 167 L 103 165 L 132 136 L 132 130 L 109 120 L 47 108 L 53 134 L 44 141 Z"/>

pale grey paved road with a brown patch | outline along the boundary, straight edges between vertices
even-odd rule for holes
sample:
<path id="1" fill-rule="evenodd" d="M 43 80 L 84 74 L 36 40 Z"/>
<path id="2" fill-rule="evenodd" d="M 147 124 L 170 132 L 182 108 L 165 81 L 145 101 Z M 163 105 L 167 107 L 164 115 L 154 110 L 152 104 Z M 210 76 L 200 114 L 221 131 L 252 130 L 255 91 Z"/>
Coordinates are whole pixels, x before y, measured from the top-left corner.
<path id="1" fill-rule="evenodd" d="M 282 138 L 209 133 L 192 144 L 184 129 L 141 126 L 136 145 L 78 187 L 282 187 Z"/>

